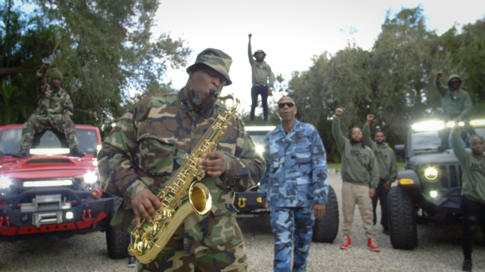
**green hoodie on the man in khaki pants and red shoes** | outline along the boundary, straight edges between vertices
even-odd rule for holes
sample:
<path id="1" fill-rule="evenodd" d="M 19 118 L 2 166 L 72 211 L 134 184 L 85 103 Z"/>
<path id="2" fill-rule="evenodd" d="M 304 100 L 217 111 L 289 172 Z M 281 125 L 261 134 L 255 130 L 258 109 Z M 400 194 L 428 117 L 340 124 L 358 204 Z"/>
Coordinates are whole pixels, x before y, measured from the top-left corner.
<path id="1" fill-rule="evenodd" d="M 371 148 L 351 144 L 351 141 L 342 135 L 339 119 L 334 118 L 332 121 L 332 134 L 342 157 L 342 180 L 376 189 L 379 185 L 379 171 Z"/>

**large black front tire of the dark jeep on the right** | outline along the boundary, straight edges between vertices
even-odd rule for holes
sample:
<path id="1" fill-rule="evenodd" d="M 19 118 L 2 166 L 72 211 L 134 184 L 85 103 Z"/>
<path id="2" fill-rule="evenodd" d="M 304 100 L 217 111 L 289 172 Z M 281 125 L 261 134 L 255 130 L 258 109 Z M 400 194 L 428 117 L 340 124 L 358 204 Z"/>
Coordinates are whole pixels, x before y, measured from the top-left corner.
<path id="1" fill-rule="evenodd" d="M 400 187 L 391 187 L 387 196 L 389 238 L 394 248 L 413 249 L 418 245 L 416 213 L 411 196 Z"/>

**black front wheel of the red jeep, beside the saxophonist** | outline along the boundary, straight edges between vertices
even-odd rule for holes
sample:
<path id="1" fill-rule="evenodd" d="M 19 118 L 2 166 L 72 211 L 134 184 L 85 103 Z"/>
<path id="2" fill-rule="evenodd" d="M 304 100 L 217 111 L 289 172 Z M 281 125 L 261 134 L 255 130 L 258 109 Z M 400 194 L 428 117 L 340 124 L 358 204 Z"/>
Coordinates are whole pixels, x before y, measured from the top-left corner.
<path id="1" fill-rule="evenodd" d="M 113 218 L 114 213 L 118 210 L 119 205 L 123 201 L 122 198 L 114 196 L 113 211 L 110 218 Z M 106 245 L 108 255 L 112 259 L 121 259 L 128 257 L 128 246 L 130 245 L 130 234 L 115 228 L 108 226 L 106 230 Z"/>

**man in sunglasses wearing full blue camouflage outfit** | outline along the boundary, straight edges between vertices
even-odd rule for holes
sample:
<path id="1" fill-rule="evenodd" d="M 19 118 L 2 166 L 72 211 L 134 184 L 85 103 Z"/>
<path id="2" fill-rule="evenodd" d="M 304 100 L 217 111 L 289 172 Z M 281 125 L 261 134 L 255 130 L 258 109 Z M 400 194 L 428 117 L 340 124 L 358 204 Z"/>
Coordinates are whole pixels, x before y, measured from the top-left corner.
<path id="1" fill-rule="evenodd" d="M 278 101 L 281 124 L 264 139 L 267 171 L 261 180 L 263 205 L 271 213 L 274 271 L 305 271 L 315 218 L 324 216 L 328 195 L 326 153 L 315 126 L 294 116 L 290 96 Z"/>

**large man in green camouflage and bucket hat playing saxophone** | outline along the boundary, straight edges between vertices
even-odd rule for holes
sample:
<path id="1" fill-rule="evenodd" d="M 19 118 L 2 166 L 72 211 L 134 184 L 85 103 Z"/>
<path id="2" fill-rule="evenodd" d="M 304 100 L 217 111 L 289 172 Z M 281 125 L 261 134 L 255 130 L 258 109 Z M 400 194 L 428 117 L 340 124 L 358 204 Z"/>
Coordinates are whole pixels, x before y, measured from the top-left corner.
<path id="1" fill-rule="evenodd" d="M 124 199 L 114 226 L 132 232 L 143 220 L 157 218 L 157 194 L 226 112 L 214 94 L 231 84 L 231 63 L 226 53 L 205 49 L 186 69 L 182 90 L 142 99 L 118 119 L 98 155 L 103 189 Z M 210 212 L 189 215 L 155 260 L 137 264 L 138 271 L 246 271 L 233 196 L 258 183 L 265 161 L 239 117 L 227 124 L 215 151 L 205 153 L 198 166 L 206 173 L 201 182 L 211 193 Z"/>

